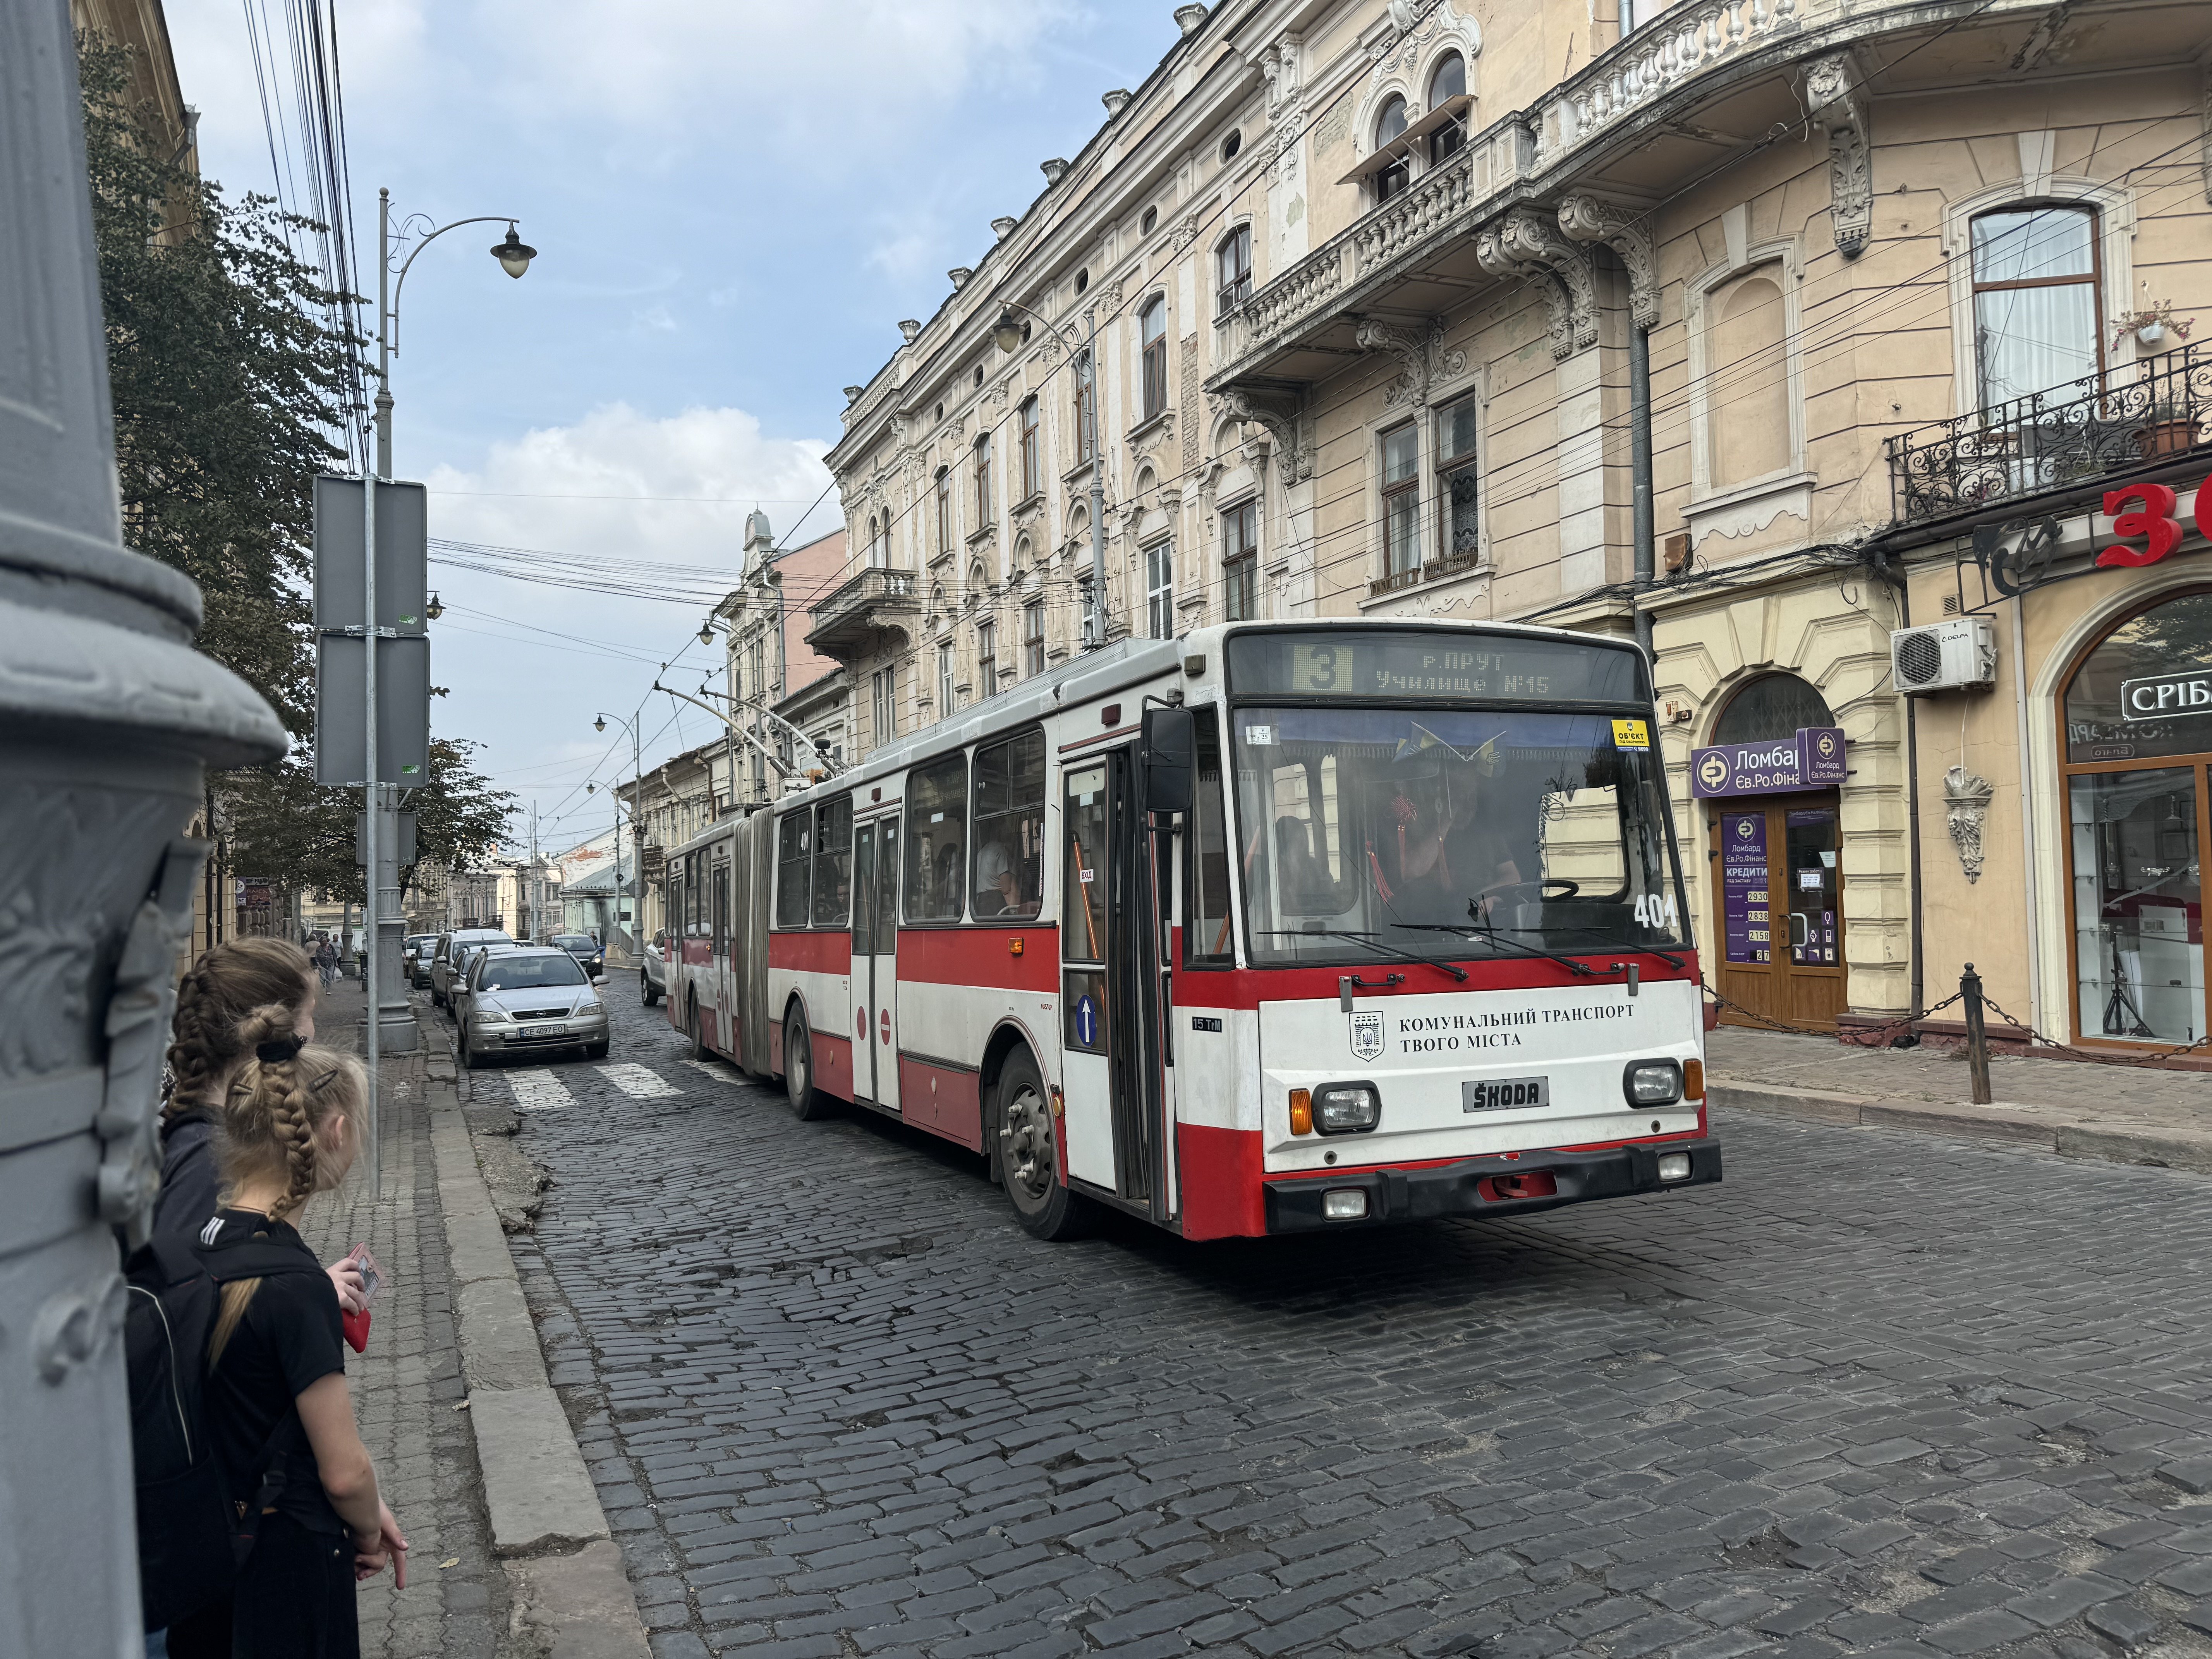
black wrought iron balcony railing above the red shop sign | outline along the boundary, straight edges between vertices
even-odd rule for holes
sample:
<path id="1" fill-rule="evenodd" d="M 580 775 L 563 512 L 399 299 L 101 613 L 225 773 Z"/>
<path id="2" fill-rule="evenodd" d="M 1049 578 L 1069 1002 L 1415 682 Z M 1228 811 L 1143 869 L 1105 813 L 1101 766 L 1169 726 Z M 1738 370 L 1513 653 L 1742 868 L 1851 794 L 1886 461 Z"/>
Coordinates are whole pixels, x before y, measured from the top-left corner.
<path id="1" fill-rule="evenodd" d="M 2090 484 L 2212 440 L 2212 345 L 1885 438 L 1896 524 Z"/>

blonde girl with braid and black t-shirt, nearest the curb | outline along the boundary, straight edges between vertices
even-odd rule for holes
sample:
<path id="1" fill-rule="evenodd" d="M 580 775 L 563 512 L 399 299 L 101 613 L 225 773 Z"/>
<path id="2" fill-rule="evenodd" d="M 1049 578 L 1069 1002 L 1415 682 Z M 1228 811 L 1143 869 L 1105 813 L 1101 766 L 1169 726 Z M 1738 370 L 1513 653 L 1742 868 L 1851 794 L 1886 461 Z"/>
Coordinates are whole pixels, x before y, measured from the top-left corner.
<path id="1" fill-rule="evenodd" d="M 259 1526 L 230 1599 L 168 1628 L 170 1659 L 358 1659 L 354 1584 L 389 1562 L 407 1586 L 407 1540 L 345 1387 L 338 1298 L 292 1228 L 352 1168 L 367 1082 L 352 1055 L 270 1037 L 272 1020 L 243 1022 L 257 1055 L 221 1106 L 223 1203 L 199 1248 L 217 1279 L 241 1243 L 303 1265 L 223 1283 L 204 1409 L 232 1506 Z"/>

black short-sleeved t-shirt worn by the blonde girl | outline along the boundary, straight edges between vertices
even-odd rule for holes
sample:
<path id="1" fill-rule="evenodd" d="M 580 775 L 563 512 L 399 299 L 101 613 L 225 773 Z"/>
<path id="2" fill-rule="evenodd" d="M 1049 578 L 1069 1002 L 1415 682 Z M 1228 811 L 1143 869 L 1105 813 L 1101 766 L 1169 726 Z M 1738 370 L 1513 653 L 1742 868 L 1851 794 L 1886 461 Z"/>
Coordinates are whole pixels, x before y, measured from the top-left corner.
<path id="1" fill-rule="evenodd" d="M 276 1509 L 303 1526 L 323 1533 L 343 1531 L 338 1511 L 323 1493 L 307 1429 L 299 1420 L 299 1396 L 332 1371 L 345 1374 L 338 1292 L 290 1223 L 270 1221 L 254 1210 L 219 1210 L 217 1217 L 223 1228 L 201 1252 L 217 1272 L 223 1243 L 257 1232 L 268 1243 L 296 1250 L 307 1267 L 261 1281 L 208 1376 L 208 1433 L 230 1478 L 230 1495 L 237 1502 L 252 1502 L 261 1491 L 261 1451 L 283 1429 L 276 1449 L 288 1458 L 288 1478 Z"/>

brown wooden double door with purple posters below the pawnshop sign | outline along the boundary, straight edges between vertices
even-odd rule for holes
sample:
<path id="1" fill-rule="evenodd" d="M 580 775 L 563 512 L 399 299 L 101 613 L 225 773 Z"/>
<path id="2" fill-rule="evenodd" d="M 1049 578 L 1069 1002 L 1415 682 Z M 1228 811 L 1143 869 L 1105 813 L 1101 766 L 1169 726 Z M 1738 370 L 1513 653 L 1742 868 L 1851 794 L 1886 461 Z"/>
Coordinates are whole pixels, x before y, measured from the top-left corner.
<path id="1" fill-rule="evenodd" d="M 1792 1026 L 1845 1009 L 1843 836 L 1834 794 L 1710 801 L 1717 987 Z M 1725 1024 L 1759 1024 L 1721 1006 Z"/>

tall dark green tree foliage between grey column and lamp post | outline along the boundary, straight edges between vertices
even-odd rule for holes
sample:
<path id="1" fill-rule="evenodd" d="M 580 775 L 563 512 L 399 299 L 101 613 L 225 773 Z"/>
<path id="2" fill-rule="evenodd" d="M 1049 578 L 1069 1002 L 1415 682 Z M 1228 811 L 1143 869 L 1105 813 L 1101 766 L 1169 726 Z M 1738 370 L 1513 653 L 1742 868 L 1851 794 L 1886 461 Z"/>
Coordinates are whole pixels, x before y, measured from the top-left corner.
<path id="1" fill-rule="evenodd" d="M 175 166 L 126 104 L 124 49 L 82 38 L 77 71 L 124 540 L 199 584 L 199 648 L 305 737 L 312 491 L 343 458 L 356 345 L 285 243 L 319 228 Z"/>

